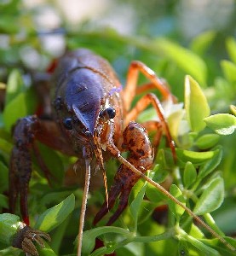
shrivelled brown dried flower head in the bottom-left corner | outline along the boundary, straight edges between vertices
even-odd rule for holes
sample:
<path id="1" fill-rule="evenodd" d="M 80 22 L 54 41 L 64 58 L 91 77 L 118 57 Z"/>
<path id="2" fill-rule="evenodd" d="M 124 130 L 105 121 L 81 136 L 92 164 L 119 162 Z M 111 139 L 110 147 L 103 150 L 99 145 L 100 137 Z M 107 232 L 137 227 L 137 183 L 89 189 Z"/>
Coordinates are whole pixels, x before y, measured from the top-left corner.
<path id="1" fill-rule="evenodd" d="M 27 255 L 38 256 L 39 254 L 33 241 L 36 241 L 40 247 L 45 247 L 43 239 L 51 241 L 49 234 L 40 230 L 33 230 L 26 225 L 15 235 L 12 246 L 22 249 Z"/>

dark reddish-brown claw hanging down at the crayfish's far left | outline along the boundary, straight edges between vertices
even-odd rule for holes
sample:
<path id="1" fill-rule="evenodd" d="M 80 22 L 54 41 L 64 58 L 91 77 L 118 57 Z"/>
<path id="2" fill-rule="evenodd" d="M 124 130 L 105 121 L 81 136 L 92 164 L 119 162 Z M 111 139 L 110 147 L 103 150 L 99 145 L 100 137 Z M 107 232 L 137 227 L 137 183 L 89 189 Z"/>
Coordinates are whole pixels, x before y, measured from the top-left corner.
<path id="1" fill-rule="evenodd" d="M 20 119 L 14 128 L 14 148 L 10 157 L 9 211 L 14 212 L 17 196 L 20 194 L 20 212 L 29 224 L 27 208 L 28 184 L 32 175 L 31 148 L 38 129 L 36 116 Z"/>

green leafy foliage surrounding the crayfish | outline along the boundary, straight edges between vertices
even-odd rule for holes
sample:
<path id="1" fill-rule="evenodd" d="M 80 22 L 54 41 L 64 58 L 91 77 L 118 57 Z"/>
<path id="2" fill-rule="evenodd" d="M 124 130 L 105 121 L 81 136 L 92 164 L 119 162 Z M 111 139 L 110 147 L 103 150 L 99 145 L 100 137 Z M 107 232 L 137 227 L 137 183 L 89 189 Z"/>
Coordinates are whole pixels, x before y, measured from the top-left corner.
<path id="1" fill-rule="evenodd" d="M 46 63 L 52 56 L 40 44 L 40 37 L 32 26 L 32 13 L 20 15 L 18 1 L 9 1 L 3 4 L 3 8 L 5 15 L 1 17 L 0 31 L 11 39 L 8 49 L 0 49 L 0 64 L 4 67 L 0 73 L 0 89 L 5 93 L 4 101 L 0 102 L 0 209 L 5 211 L 8 205 L 9 157 L 13 147 L 11 131 L 17 119 L 36 113 L 38 105 L 33 83 L 26 79 L 32 70 L 22 60 L 20 52 L 24 47 L 30 47 L 37 51 L 42 60 L 47 60 Z M 9 18 L 14 18 L 14 22 Z M 25 28 L 25 36 L 19 38 L 17 33 L 22 27 Z M 134 59 L 147 63 L 170 83 L 173 93 L 184 103 L 164 106 L 171 135 L 176 142 L 177 163 L 173 163 L 170 148 L 165 146 L 163 139 L 148 177 L 163 183 L 172 195 L 193 212 L 202 215 L 213 230 L 235 247 L 236 242 L 227 236 L 236 230 L 233 192 L 236 183 L 236 111 L 233 107 L 236 95 L 236 42 L 233 38 L 227 38 L 229 59 L 221 61 L 222 73 L 219 74 L 217 67 L 210 69 L 212 61 L 216 60 L 213 55 L 208 55 L 214 38 L 215 32 L 206 32 L 194 38 L 188 47 L 183 47 L 167 38 L 143 40 L 120 35 L 111 29 L 88 31 L 83 26 L 76 32 L 66 27 L 65 35 L 68 49 L 87 47 L 106 57 L 123 83 L 129 62 Z M 37 71 L 40 69 L 38 67 Z M 143 78 L 140 80 L 142 82 Z M 158 91 L 154 92 L 158 94 Z M 229 113 L 230 104 L 233 114 Z M 214 114 L 210 115 L 210 110 Z M 141 113 L 138 121 L 155 118 L 155 111 L 148 108 Z M 82 189 L 78 185 L 65 186 L 62 183 L 75 159 L 43 145 L 39 148 L 47 166 L 54 169 L 51 171 L 52 179 L 55 179 L 49 186 L 37 162 L 33 163 L 29 189 L 31 224 L 32 227 L 50 232 L 52 237 L 51 244 L 43 249 L 38 247 L 38 251 L 45 256 L 76 255 Z M 114 160 L 106 163 L 109 186 L 117 168 L 118 163 Z M 103 188 L 90 192 L 83 234 L 84 255 L 98 256 L 112 252 L 130 256 L 175 253 L 233 255 L 218 239 L 210 236 L 205 238 L 204 231 L 189 218 L 187 212 L 150 183 L 140 180 L 135 184 L 129 207 L 114 225 L 103 226 L 101 221 L 94 227 L 94 214 L 104 198 Z M 155 216 L 167 205 L 169 213 L 164 212 L 165 221 L 159 223 L 159 218 Z M 1 255 L 20 255 L 20 250 L 10 247 L 12 236 L 20 225 L 19 209 L 16 214 L 0 214 Z M 221 219 L 220 227 L 213 218 Z M 227 223 L 228 219 L 231 220 L 230 224 Z M 230 232 L 227 226 L 231 227 Z M 102 247 L 96 247 L 97 238 L 103 241 Z"/>

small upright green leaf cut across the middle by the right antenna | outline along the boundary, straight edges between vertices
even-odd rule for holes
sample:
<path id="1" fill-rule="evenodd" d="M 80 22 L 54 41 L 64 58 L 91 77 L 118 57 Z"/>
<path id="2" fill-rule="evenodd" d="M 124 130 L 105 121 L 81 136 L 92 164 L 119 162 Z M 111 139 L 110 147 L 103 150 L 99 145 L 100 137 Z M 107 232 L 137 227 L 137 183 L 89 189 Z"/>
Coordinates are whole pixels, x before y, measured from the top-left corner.
<path id="1" fill-rule="evenodd" d="M 176 199 L 178 199 L 179 201 L 181 201 L 181 203 L 185 205 L 185 199 L 182 195 L 181 189 L 179 189 L 176 184 L 172 184 L 170 186 L 170 194 L 174 195 Z M 177 205 L 174 201 L 169 200 L 168 204 L 170 207 L 170 211 L 176 216 L 176 219 L 179 219 L 183 212 L 185 212 L 185 210 L 181 206 Z"/>

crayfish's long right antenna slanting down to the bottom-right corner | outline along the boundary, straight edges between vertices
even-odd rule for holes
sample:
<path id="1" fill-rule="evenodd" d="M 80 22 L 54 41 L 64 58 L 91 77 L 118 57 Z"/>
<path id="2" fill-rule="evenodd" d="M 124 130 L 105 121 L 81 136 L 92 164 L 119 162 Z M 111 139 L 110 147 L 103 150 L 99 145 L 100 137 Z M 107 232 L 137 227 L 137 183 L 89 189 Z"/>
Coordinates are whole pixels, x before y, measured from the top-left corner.
<path id="1" fill-rule="evenodd" d="M 190 216 L 192 216 L 194 219 L 196 219 L 199 224 L 202 224 L 204 226 L 204 228 L 206 230 L 208 230 L 213 236 L 215 236 L 216 238 L 218 238 L 220 241 L 222 241 L 222 243 L 229 248 L 231 251 L 235 252 L 236 248 L 233 247 L 230 243 L 228 243 L 222 236 L 220 236 L 218 233 L 216 233 L 215 230 L 212 230 L 210 228 L 210 226 L 208 224 L 205 224 L 204 221 L 199 218 L 199 216 L 197 216 L 193 211 L 191 211 L 189 208 L 187 208 L 183 203 L 181 203 L 181 201 L 178 201 L 176 199 L 175 196 L 171 195 L 166 189 L 164 189 L 164 187 L 162 187 L 160 184 L 155 183 L 151 178 L 147 177 L 146 175 L 144 175 L 142 172 L 140 172 L 139 170 L 137 170 L 135 168 L 135 166 L 132 166 L 130 164 L 129 161 L 125 160 L 124 157 L 122 155 L 118 155 L 118 160 L 124 164 L 125 166 L 127 166 L 131 171 L 137 173 L 138 175 L 140 175 L 141 177 L 143 177 L 145 180 L 147 180 L 148 183 L 152 184 L 155 188 L 157 188 L 159 191 L 161 191 L 162 193 L 164 193 L 164 195 L 166 195 L 167 197 L 170 198 L 171 201 L 174 201 L 177 205 L 179 205 L 180 207 L 182 207 Z"/>

